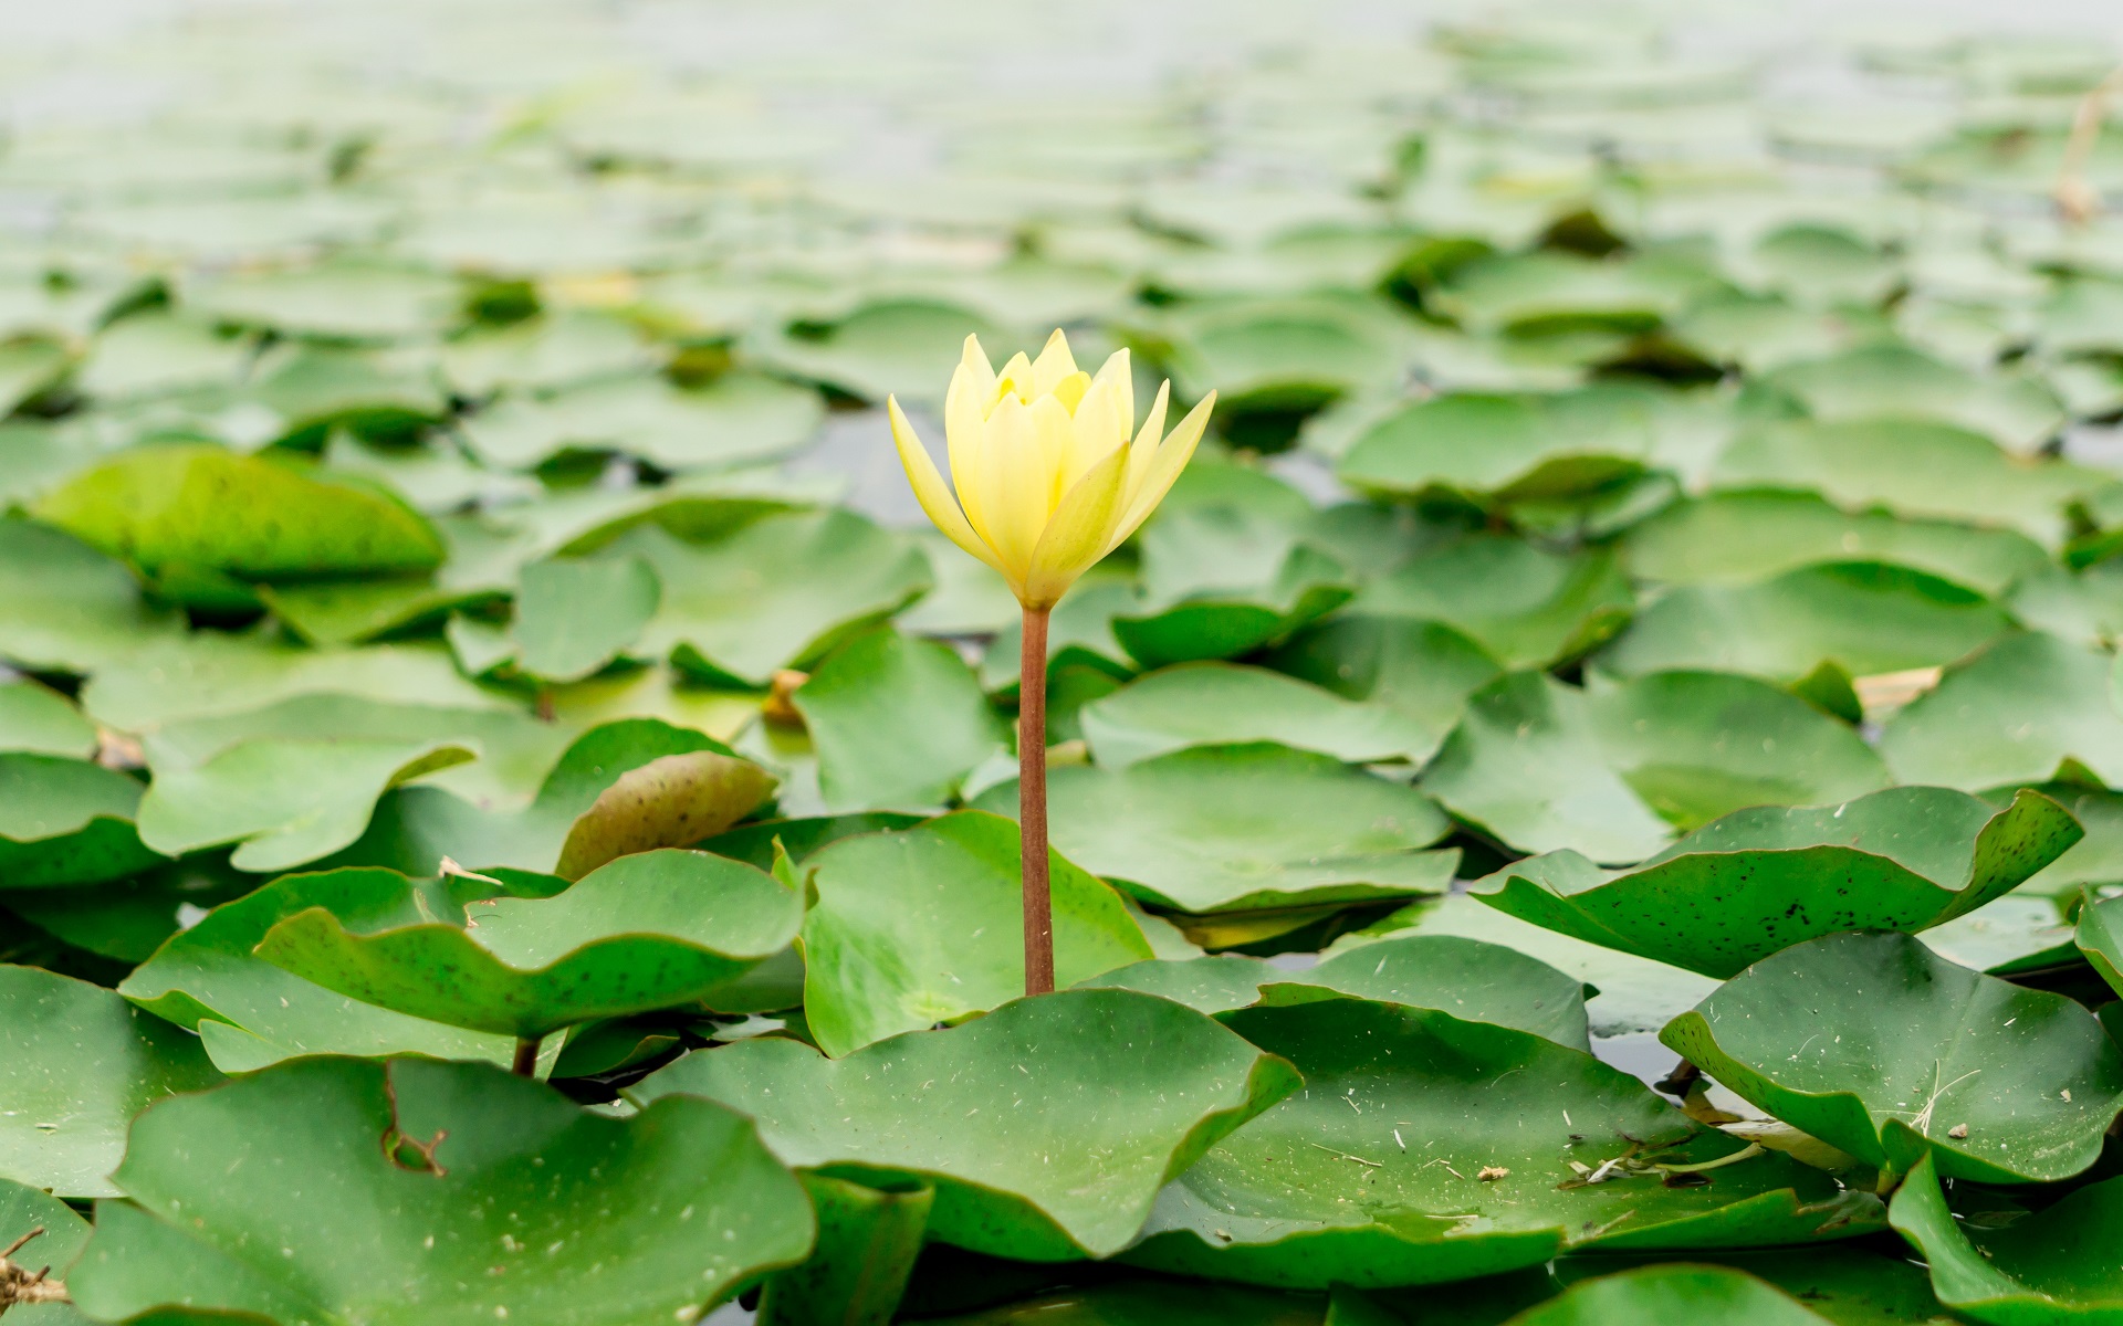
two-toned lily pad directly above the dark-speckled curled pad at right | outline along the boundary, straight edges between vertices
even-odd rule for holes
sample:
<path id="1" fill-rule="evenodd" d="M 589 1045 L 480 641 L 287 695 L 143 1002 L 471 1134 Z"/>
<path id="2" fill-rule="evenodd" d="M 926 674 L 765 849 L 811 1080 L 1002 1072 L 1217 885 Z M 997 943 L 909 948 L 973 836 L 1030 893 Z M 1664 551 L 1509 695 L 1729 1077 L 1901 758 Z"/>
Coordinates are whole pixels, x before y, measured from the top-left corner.
<path id="1" fill-rule="evenodd" d="M 1673 830 L 1764 802 L 1887 783 L 1856 732 L 1749 677 L 1654 673 L 1575 690 L 1512 673 L 1469 698 L 1422 774 L 1456 817 L 1520 851 L 1639 861 Z"/>

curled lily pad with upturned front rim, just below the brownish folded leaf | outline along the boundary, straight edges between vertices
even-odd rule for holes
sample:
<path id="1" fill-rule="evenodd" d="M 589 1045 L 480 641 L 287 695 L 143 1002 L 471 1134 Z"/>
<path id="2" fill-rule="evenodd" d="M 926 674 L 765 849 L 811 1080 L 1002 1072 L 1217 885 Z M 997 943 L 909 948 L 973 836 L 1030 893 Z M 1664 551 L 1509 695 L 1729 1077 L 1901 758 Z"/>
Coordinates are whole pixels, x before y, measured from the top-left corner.
<path id="1" fill-rule="evenodd" d="M 274 923 L 257 955 L 363 1004 L 535 1040 L 737 980 L 796 938 L 802 900 L 741 861 L 660 849 L 552 897 L 408 921 L 401 908 L 340 917 L 310 906 Z"/>

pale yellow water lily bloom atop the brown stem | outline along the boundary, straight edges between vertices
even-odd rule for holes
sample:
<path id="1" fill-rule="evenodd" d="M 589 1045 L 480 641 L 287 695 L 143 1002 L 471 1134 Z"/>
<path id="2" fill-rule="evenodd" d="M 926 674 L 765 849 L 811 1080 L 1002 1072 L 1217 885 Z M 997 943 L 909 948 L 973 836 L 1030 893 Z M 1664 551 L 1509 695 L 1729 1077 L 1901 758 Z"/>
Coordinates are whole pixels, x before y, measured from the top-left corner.
<path id="1" fill-rule="evenodd" d="M 1017 354 L 998 373 L 968 335 L 943 405 L 955 499 L 900 403 L 885 405 L 928 518 L 1000 571 L 1025 609 L 1045 611 L 1149 520 L 1193 456 L 1216 392 L 1166 435 L 1170 395 L 1170 382 L 1159 386 L 1136 429 L 1127 350 L 1091 376 L 1055 331 L 1038 359 Z"/>

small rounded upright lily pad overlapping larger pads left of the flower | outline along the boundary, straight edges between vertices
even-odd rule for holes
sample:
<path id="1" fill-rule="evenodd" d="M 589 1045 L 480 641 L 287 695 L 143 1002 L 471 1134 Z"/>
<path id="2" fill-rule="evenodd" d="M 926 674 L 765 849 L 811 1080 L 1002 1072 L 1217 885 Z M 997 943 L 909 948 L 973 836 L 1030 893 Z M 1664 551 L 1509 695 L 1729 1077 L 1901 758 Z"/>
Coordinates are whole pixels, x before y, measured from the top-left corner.
<path id="1" fill-rule="evenodd" d="M 516 588 L 516 666 L 546 681 L 582 681 L 641 639 L 662 586 L 641 558 L 550 558 Z"/>

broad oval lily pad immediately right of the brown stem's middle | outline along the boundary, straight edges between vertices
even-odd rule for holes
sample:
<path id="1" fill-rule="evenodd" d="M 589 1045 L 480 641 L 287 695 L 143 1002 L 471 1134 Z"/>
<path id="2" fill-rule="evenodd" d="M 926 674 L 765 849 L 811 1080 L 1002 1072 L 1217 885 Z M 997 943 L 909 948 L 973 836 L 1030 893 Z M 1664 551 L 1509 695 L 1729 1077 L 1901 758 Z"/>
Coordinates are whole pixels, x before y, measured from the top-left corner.
<path id="1" fill-rule="evenodd" d="M 1418 851 L 1446 832 L 1420 791 L 1267 743 L 1055 768 L 1047 798 L 1055 851 L 1183 912 L 1433 893 L 1459 861 Z M 1015 779 L 972 804 L 1015 813 Z"/>

